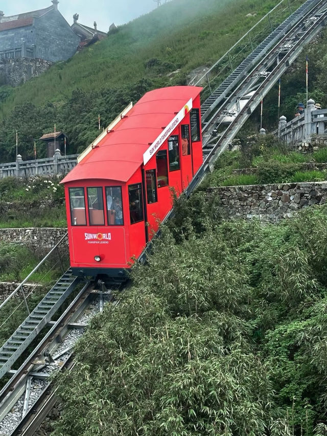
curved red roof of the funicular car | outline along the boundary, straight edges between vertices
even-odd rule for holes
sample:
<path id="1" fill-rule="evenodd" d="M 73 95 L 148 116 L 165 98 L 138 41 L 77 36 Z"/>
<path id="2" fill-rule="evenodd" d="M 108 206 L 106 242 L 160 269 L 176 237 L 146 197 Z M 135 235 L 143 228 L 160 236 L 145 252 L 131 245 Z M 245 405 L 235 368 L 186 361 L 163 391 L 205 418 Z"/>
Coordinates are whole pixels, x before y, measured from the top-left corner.
<path id="1" fill-rule="evenodd" d="M 129 180 L 143 163 L 149 145 L 201 90 L 197 86 L 170 86 L 146 93 L 62 183 L 85 179 Z"/>

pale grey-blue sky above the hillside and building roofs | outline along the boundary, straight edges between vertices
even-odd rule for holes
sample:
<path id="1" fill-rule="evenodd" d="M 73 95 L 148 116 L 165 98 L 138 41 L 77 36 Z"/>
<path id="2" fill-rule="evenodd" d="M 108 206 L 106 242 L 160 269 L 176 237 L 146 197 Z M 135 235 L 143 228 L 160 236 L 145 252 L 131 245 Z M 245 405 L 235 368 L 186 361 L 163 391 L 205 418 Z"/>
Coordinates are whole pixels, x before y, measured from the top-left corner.
<path id="1" fill-rule="evenodd" d="M 3 10 L 6 16 L 51 5 L 51 0 L 0 0 L 0 10 Z M 111 23 L 127 23 L 150 12 L 156 6 L 153 0 L 59 0 L 58 9 L 69 24 L 73 24 L 73 15 L 78 13 L 79 23 L 93 27 L 94 21 L 97 21 L 98 30 L 107 32 Z"/>

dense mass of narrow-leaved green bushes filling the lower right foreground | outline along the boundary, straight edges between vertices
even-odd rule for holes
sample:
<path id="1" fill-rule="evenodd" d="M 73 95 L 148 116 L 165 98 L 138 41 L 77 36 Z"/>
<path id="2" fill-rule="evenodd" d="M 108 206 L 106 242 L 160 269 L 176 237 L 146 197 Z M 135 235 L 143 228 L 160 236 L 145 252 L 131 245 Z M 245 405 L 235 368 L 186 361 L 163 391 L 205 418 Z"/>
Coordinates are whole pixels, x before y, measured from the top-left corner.
<path id="1" fill-rule="evenodd" d="M 197 195 L 78 343 L 55 436 L 323 434 L 327 209 L 221 223 Z"/>

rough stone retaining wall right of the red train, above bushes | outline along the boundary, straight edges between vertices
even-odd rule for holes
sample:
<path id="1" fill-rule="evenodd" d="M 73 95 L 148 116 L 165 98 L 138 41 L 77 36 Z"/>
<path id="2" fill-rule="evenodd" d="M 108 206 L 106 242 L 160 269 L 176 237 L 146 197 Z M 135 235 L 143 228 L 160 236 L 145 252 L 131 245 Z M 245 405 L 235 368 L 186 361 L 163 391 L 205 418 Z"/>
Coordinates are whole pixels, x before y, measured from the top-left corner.
<path id="1" fill-rule="evenodd" d="M 327 182 L 221 186 L 207 192 L 219 195 L 229 217 L 277 222 L 303 207 L 326 203 Z"/>

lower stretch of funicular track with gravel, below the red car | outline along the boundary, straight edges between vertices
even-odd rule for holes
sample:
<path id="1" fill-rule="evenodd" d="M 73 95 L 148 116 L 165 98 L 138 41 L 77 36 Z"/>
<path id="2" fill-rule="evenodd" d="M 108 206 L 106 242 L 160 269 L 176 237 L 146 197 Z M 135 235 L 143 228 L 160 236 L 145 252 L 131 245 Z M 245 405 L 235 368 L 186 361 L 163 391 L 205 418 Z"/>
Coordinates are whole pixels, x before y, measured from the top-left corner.
<path id="1" fill-rule="evenodd" d="M 71 304 L 43 337 L 26 361 L 0 391 L 0 434 L 32 435 L 56 400 L 50 376 L 73 367 L 72 350 L 91 316 L 111 301 L 110 292 L 94 289 L 86 282 Z"/>

